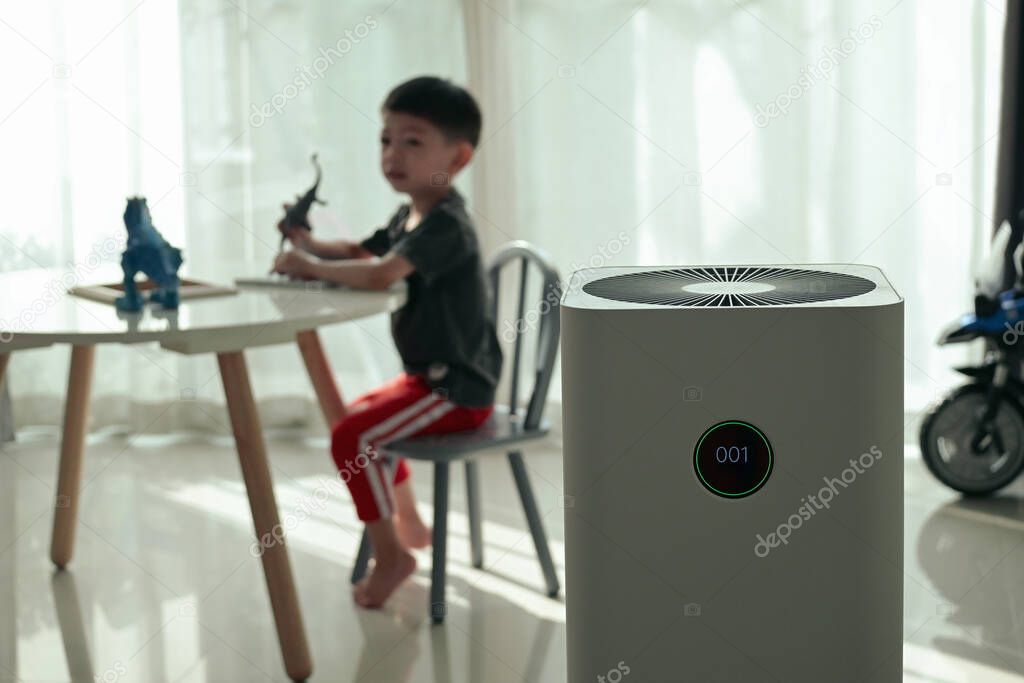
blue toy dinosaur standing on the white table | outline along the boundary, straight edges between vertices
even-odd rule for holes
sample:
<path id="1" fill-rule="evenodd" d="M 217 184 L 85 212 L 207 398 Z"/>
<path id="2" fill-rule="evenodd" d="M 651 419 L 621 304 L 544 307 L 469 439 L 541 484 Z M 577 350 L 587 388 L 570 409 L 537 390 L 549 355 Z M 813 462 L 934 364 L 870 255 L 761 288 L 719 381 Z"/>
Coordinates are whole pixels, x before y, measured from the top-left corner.
<path id="1" fill-rule="evenodd" d="M 150 301 L 159 303 L 164 308 L 177 308 L 181 250 L 168 244 L 153 225 L 144 197 L 128 198 L 124 219 L 128 229 L 128 245 L 121 255 L 125 295 L 118 297 L 114 305 L 118 310 L 142 309 L 145 299 L 135 284 L 135 273 L 142 272 L 156 285 L 156 289 L 150 294 Z"/>

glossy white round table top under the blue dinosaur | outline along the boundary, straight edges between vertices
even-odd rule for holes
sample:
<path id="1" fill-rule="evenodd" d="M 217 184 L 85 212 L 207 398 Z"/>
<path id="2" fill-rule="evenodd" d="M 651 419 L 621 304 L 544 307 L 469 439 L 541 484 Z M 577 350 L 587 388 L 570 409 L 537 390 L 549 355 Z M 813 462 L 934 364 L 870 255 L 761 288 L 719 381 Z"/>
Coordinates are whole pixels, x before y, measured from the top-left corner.
<path id="1" fill-rule="evenodd" d="M 259 272 L 265 264 L 240 266 L 239 276 Z M 233 276 L 183 276 L 233 285 Z M 303 330 L 367 317 L 399 308 L 404 283 L 382 292 L 294 287 L 240 287 L 238 294 L 182 300 L 177 310 L 147 304 L 137 313 L 118 311 L 68 293 L 72 287 L 115 283 L 116 266 L 88 273 L 61 268 L 35 268 L 0 273 L 0 352 L 71 344 L 136 344 L 158 342 L 180 353 L 234 351 L 252 346 L 293 342 Z"/>

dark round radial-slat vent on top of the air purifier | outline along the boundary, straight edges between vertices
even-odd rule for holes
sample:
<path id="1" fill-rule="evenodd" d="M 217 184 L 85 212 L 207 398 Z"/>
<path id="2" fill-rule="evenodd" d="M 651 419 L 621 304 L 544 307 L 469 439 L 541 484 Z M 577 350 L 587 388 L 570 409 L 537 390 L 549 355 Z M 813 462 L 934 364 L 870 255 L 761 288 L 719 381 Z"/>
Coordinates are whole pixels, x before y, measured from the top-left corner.
<path id="1" fill-rule="evenodd" d="M 583 291 L 612 301 L 718 308 L 835 301 L 873 289 L 871 281 L 841 272 L 717 266 L 611 275 L 584 285 Z"/>

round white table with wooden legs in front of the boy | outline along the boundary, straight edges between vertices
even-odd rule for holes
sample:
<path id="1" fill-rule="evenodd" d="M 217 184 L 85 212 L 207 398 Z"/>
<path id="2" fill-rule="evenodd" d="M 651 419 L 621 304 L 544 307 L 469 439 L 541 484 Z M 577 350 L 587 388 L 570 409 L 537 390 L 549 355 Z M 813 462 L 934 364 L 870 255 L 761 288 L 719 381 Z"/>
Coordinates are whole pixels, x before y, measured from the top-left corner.
<path id="1" fill-rule="evenodd" d="M 83 280 L 88 282 L 82 284 L 92 284 L 120 278 L 116 269 L 102 269 Z M 147 307 L 126 314 L 111 304 L 66 294 L 69 284 L 78 283 L 72 282 L 70 271 L 60 269 L 0 274 L 0 382 L 14 351 L 52 344 L 72 347 L 50 545 L 50 558 L 60 568 L 71 561 L 75 547 L 96 344 L 157 342 L 178 353 L 217 355 L 256 538 L 261 539 L 281 525 L 243 351 L 297 343 L 324 416 L 333 424 L 345 407 L 316 329 L 394 310 L 404 303 L 402 288 L 358 292 L 259 287 L 242 288 L 237 295 L 182 301 L 177 311 L 156 313 Z M 312 660 L 285 544 L 272 544 L 261 559 L 285 670 L 292 679 L 303 680 L 312 673 Z"/>

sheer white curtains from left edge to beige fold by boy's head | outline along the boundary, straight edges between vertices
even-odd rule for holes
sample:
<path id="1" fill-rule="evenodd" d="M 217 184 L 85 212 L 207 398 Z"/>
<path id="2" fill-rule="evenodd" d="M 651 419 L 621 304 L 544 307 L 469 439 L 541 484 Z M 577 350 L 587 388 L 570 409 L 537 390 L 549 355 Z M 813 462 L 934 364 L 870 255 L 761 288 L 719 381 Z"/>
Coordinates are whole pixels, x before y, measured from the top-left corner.
<path id="1" fill-rule="evenodd" d="M 378 171 L 388 88 L 424 72 L 465 80 L 457 2 L 22 4 L 0 13 L 0 56 L 26 67 L 0 95 L 0 172 L 16 200 L 0 223 L 8 270 L 80 267 L 123 232 L 124 198 L 140 194 L 186 268 L 229 282 L 240 259 L 269 265 L 281 202 L 311 182 L 314 151 L 329 200 L 317 230 L 361 237 L 401 199 Z M 400 369 L 386 316 L 324 339 L 347 398 Z M 265 425 L 321 428 L 296 349 L 247 356 Z M 15 355 L 18 424 L 59 423 L 67 368 L 62 347 Z M 102 347 L 93 393 L 94 427 L 226 429 L 209 357 Z"/>

